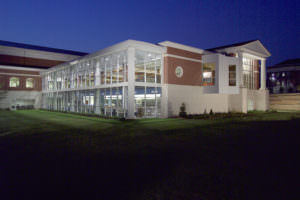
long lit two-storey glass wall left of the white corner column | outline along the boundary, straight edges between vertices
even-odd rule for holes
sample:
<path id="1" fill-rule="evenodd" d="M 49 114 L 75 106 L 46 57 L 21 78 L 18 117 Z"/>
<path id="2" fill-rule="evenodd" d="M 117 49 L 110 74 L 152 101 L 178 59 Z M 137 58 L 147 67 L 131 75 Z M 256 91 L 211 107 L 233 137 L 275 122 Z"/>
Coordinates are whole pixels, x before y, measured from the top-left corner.
<path id="1" fill-rule="evenodd" d="M 43 75 L 44 109 L 126 117 L 127 50 L 54 69 Z"/>

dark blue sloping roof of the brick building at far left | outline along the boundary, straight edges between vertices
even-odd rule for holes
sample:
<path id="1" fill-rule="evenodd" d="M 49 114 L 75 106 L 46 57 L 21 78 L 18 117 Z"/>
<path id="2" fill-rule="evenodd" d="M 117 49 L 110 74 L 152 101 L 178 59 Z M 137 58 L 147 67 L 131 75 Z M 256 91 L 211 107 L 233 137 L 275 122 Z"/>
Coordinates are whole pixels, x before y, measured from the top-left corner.
<path id="1" fill-rule="evenodd" d="M 9 42 L 9 41 L 4 41 L 4 40 L 0 40 L 0 45 L 8 46 L 8 47 L 17 47 L 17 48 L 38 50 L 38 51 L 47 51 L 47 52 L 52 52 L 52 53 L 70 54 L 70 55 L 76 55 L 76 56 L 87 55 L 87 53 L 79 52 L 79 51 L 56 49 L 56 48 L 51 48 L 51 47 L 43 47 L 43 46 L 37 46 L 37 45 L 31 45 L 31 44 Z"/>

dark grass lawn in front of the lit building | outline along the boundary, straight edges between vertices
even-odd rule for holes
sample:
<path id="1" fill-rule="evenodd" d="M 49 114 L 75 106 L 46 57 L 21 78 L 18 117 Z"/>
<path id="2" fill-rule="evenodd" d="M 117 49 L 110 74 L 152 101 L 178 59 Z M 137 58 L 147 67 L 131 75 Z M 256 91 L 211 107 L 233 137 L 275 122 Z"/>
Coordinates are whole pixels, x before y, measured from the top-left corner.
<path id="1" fill-rule="evenodd" d="M 300 114 L 104 120 L 0 111 L 0 199 L 298 199 Z"/>

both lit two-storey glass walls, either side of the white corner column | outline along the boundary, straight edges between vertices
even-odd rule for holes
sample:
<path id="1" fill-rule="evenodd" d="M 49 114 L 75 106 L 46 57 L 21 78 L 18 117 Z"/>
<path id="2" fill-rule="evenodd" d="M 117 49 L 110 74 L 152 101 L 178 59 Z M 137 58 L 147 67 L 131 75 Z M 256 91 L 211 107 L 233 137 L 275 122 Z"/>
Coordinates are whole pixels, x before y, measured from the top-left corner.
<path id="1" fill-rule="evenodd" d="M 135 49 L 135 116 L 161 116 L 162 55 Z M 72 63 L 72 64 L 71 64 Z M 87 57 L 43 75 L 43 108 L 126 117 L 127 50 Z"/>

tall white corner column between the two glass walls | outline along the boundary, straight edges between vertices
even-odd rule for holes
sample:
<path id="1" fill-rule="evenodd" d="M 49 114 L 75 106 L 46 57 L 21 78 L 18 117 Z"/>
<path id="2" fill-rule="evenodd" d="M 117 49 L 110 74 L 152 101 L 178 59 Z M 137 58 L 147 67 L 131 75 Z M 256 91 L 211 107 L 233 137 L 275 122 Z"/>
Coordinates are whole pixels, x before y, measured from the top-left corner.
<path id="1" fill-rule="evenodd" d="M 135 88 L 134 88 L 134 81 L 135 81 L 135 76 L 134 76 L 134 54 L 135 54 L 135 49 L 132 47 L 128 48 L 127 51 L 127 59 L 128 59 L 128 119 L 134 119 L 134 110 L 135 110 L 135 105 L 134 105 L 134 93 L 135 93 Z"/>

